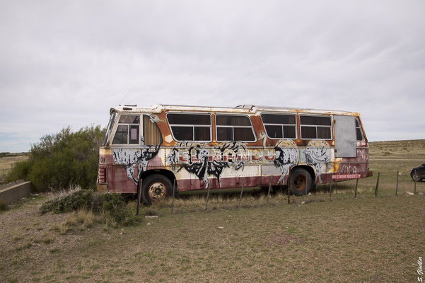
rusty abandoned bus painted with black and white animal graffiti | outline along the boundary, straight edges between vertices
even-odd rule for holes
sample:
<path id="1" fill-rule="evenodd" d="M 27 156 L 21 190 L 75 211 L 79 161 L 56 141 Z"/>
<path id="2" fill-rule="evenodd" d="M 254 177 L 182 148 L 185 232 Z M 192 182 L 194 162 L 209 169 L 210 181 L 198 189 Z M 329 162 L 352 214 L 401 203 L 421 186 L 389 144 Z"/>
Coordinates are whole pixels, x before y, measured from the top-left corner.
<path id="1" fill-rule="evenodd" d="M 365 178 L 368 141 L 359 113 L 239 105 L 125 105 L 110 109 L 100 146 L 100 192 L 151 204 L 177 191 Z M 138 187 L 138 186 L 141 187 Z"/>

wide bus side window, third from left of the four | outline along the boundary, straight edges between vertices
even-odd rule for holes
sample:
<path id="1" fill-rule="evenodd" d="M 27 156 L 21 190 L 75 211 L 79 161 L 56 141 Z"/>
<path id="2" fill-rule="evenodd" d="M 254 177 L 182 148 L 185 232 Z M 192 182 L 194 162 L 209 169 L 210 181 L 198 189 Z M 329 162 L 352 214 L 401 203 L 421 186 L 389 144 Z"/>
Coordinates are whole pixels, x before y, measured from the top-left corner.
<path id="1" fill-rule="evenodd" d="M 296 139 L 296 115 L 262 114 L 261 119 L 270 139 Z"/>

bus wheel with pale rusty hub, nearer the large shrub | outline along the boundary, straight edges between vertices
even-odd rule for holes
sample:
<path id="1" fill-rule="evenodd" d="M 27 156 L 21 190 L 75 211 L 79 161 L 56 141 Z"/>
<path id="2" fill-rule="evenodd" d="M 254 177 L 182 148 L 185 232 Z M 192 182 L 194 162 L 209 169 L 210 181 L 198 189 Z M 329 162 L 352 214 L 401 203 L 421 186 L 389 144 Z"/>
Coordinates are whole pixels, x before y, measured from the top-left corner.
<path id="1" fill-rule="evenodd" d="M 142 180 L 141 201 L 146 205 L 165 199 L 173 192 L 170 180 L 164 175 L 153 174 Z"/>

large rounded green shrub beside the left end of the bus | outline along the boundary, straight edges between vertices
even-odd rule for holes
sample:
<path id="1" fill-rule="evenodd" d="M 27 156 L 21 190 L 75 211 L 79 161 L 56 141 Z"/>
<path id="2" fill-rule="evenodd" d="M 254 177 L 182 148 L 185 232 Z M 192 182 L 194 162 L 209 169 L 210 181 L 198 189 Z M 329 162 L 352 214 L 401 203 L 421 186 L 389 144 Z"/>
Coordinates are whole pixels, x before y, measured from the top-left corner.
<path id="1" fill-rule="evenodd" d="M 66 127 L 57 134 L 45 135 L 31 145 L 28 160 L 16 163 L 4 182 L 30 180 L 38 191 L 61 190 L 71 184 L 83 189 L 94 187 L 104 131 L 91 125 L 77 132 Z"/>

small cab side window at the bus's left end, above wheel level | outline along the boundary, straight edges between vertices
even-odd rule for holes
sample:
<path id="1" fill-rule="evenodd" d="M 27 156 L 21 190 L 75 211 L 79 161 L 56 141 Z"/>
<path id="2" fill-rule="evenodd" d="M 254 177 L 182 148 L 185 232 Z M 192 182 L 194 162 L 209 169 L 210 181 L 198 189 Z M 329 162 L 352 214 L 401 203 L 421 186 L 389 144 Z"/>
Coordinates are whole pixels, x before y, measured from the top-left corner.
<path id="1" fill-rule="evenodd" d="M 121 115 L 112 144 L 139 144 L 140 115 Z"/>

